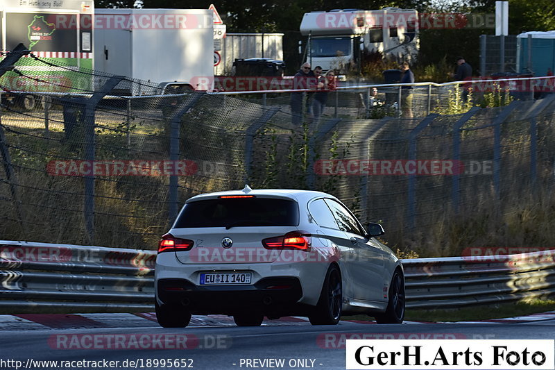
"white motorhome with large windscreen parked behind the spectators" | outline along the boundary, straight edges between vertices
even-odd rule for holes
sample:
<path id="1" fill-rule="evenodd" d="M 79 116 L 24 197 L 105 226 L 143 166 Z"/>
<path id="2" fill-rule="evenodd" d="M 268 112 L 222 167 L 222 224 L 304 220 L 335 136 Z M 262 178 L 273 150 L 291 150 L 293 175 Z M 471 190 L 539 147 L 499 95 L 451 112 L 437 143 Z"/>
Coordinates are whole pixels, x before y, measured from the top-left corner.
<path id="1" fill-rule="evenodd" d="M 308 36 L 305 61 L 343 74 L 359 65 L 363 52 L 414 60 L 418 54 L 418 12 L 413 9 L 343 9 L 308 12 L 300 32 Z"/>

